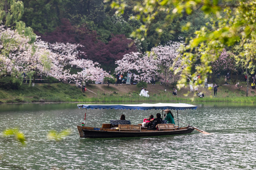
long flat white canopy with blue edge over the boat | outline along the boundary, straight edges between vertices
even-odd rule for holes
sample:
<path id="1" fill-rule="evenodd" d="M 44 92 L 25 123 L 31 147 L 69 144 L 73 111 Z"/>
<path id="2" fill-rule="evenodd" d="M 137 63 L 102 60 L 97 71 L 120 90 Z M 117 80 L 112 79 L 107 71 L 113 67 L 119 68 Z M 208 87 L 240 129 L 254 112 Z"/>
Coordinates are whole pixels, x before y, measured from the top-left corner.
<path id="1" fill-rule="evenodd" d="M 196 109 L 197 106 L 186 103 L 143 103 L 143 104 L 78 104 L 78 108 L 86 109 L 121 109 L 121 110 L 186 110 Z"/>

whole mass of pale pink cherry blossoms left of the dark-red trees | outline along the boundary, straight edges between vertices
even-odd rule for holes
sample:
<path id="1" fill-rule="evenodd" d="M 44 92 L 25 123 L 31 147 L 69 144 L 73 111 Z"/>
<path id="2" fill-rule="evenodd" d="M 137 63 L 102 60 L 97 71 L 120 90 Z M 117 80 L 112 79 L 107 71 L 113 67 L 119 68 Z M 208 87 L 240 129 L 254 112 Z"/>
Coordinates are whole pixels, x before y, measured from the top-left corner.
<path id="1" fill-rule="evenodd" d="M 79 44 L 51 44 L 39 39 L 29 43 L 30 39 L 16 30 L 4 26 L 0 30 L 0 76 L 22 78 L 26 74 L 33 79 L 35 75 L 45 75 L 86 83 L 108 76 L 98 63 L 79 58 Z"/>

